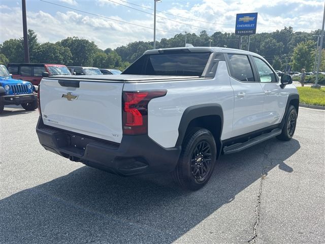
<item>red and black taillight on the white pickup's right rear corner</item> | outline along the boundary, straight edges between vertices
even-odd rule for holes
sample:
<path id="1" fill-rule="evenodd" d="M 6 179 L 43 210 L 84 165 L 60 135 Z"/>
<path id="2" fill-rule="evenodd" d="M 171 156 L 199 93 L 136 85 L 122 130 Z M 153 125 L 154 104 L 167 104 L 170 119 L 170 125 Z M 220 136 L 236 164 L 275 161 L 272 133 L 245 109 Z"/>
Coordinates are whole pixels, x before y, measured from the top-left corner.
<path id="1" fill-rule="evenodd" d="M 122 124 L 124 135 L 148 133 L 148 104 L 153 98 L 164 97 L 167 90 L 123 92 Z"/>

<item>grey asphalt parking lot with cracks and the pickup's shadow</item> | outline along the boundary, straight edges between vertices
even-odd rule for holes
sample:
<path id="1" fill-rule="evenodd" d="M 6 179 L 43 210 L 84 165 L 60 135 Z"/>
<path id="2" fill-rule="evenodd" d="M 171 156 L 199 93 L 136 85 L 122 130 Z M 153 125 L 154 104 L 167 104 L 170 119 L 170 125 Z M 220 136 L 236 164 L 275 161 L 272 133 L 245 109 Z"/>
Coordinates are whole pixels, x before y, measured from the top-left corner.
<path id="1" fill-rule="evenodd" d="M 325 111 L 296 134 L 222 156 L 208 185 L 131 178 L 43 149 L 38 111 L 0 117 L 0 243 L 324 243 Z"/>

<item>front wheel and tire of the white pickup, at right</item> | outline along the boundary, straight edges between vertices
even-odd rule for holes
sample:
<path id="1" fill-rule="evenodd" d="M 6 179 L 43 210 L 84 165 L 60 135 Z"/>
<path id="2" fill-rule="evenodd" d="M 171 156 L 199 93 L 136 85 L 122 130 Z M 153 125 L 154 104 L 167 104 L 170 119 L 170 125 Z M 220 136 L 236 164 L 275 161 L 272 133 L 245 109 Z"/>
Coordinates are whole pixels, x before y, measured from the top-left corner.
<path id="1" fill-rule="evenodd" d="M 290 105 L 284 116 L 284 125 L 282 133 L 276 138 L 281 141 L 288 141 L 293 138 L 297 125 L 297 110 L 293 105 Z"/>

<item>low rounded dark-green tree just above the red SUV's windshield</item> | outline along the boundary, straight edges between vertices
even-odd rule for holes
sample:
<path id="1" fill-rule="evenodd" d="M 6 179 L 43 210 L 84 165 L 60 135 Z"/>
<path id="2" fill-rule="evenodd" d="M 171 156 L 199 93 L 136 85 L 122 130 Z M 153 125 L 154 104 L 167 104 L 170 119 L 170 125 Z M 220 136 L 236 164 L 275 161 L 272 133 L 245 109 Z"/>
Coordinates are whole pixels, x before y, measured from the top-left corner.
<path id="1" fill-rule="evenodd" d="M 36 47 L 34 59 L 37 63 L 64 64 L 71 63 L 72 54 L 69 48 L 46 42 Z"/>

